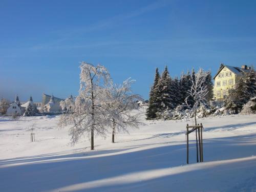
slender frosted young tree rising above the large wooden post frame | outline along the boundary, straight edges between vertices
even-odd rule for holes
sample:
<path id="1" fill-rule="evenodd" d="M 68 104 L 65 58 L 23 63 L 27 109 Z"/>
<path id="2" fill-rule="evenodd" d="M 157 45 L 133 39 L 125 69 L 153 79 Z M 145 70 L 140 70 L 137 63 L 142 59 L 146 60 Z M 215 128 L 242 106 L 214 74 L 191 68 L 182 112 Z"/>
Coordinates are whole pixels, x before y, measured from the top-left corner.
<path id="1" fill-rule="evenodd" d="M 202 69 L 199 69 L 199 71 L 195 74 L 194 77 L 193 77 L 193 73 L 192 73 L 192 75 L 191 75 L 192 86 L 191 86 L 190 90 L 188 91 L 189 95 L 185 99 L 186 105 L 194 113 L 196 125 L 197 125 L 197 109 L 201 103 L 206 101 L 206 96 L 208 94 L 207 86 L 204 85 L 206 76 L 207 76 L 207 73 L 205 73 Z M 193 101 L 194 101 L 193 105 L 188 103 L 189 97 L 193 99 Z"/>

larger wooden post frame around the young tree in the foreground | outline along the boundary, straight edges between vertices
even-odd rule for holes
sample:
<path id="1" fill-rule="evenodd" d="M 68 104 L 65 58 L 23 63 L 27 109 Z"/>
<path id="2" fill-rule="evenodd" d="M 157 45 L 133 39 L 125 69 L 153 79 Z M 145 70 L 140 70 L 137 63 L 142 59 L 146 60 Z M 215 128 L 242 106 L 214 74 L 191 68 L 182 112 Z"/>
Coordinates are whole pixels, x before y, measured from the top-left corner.
<path id="1" fill-rule="evenodd" d="M 189 130 L 189 128 L 192 128 L 191 130 Z M 196 141 L 197 141 L 197 162 L 199 162 L 198 160 L 198 143 L 199 143 L 199 154 L 200 154 L 200 162 L 203 162 L 203 125 L 202 123 L 199 125 L 191 125 L 191 126 L 186 126 L 187 132 L 186 132 L 186 139 L 187 139 L 187 164 L 188 164 L 188 135 L 190 133 L 193 133 L 194 131 L 196 131 Z M 199 141 L 199 142 L 198 142 Z"/>

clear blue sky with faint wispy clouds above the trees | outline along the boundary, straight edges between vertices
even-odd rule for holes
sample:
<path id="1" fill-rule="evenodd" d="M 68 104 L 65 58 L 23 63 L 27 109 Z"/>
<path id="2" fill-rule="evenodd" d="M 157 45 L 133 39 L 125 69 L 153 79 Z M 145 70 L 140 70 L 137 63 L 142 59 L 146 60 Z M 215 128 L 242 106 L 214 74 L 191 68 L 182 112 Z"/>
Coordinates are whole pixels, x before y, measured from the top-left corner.
<path id="1" fill-rule="evenodd" d="M 79 62 L 101 63 L 114 81 L 136 79 L 148 97 L 155 68 L 216 73 L 256 62 L 256 1 L 5 1 L 0 4 L 0 97 L 66 98 Z"/>

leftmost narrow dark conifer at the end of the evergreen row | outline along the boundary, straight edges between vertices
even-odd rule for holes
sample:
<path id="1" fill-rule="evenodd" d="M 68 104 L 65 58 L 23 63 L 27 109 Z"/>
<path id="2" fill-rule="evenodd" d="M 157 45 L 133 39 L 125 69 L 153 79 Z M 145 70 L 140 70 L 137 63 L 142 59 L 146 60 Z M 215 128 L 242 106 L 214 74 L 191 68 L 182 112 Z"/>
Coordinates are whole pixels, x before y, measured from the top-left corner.
<path id="1" fill-rule="evenodd" d="M 148 108 L 146 111 L 146 118 L 147 119 L 155 119 L 156 118 L 156 113 L 158 111 L 158 108 L 160 106 L 160 103 L 157 102 L 157 84 L 160 80 L 160 74 L 158 72 L 158 68 L 156 69 L 156 74 L 155 74 L 155 80 L 154 84 L 151 87 L 150 91 L 150 100 L 148 102 Z"/>

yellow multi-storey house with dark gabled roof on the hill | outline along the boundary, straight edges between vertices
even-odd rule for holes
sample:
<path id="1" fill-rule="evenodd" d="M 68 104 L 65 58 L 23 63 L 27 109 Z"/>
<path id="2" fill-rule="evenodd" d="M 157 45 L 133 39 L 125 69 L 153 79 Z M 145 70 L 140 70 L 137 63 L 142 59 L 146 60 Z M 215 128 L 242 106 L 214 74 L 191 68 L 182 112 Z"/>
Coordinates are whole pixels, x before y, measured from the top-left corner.
<path id="1" fill-rule="evenodd" d="M 218 73 L 214 76 L 214 99 L 223 101 L 228 89 L 233 88 L 239 78 L 250 71 L 247 66 L 232 67 L 221 65 Z"/>

